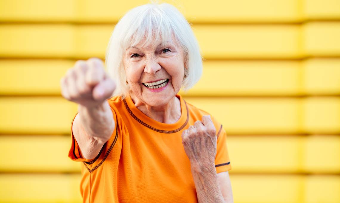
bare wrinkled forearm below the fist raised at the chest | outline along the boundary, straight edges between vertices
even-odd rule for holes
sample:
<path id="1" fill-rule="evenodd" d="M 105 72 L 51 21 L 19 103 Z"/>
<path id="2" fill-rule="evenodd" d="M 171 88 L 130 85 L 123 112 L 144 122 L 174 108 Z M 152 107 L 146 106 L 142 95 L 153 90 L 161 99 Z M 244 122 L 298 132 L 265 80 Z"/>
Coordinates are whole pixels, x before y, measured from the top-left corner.
<path id="1" fill-rule="evenodd" d="M 224 203 L 218 184 L 214 163 L 207 166 L 191 163 L 191 173 L 194 179 L 199 203 Z"/>

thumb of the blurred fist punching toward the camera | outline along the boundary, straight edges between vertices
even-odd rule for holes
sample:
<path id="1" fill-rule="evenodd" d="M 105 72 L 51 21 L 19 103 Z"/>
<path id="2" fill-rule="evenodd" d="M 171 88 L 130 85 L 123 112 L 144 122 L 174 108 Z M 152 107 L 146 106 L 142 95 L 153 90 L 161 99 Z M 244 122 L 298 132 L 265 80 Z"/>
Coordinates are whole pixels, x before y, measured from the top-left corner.
<path id="1" fill-rule="evenodd" d="M 92 90 L 92 97 L 97 100 L 110 98 L 116 89 L 116 83 L 109 77 L 99 82 Z"/>

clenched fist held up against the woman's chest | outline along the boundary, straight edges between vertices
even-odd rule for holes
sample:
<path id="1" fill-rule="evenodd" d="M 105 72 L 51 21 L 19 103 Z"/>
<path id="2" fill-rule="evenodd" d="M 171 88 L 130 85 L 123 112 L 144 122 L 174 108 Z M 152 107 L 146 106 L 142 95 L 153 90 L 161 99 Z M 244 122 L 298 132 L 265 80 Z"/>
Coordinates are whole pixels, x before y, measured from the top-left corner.
<path id="1" fill-rule="evenodd" d="M 194 125 L 184 130 L 182 143 L 191 163 L 200 167 L 213 165 L 216 157 L 217 137 L 210 115 L 203 116 L 202 121 L 196 121 Z"/>

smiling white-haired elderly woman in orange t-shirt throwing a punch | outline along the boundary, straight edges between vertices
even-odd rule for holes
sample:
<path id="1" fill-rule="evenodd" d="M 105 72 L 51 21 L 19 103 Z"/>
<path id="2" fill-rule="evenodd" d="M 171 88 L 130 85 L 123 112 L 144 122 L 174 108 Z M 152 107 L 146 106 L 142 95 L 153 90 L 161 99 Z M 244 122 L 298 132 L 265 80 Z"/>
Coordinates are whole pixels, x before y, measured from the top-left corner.
<path id="1" fill-rule="evenodd" d="M 83 202 L 233 202 L 226 132 L 178 94 L 202 73 L 184 16 L 166 3 L 130 10 L 106 67 L 79 60 L 61 79 L 79 104 L 69 157 L 82 161 Z"/>

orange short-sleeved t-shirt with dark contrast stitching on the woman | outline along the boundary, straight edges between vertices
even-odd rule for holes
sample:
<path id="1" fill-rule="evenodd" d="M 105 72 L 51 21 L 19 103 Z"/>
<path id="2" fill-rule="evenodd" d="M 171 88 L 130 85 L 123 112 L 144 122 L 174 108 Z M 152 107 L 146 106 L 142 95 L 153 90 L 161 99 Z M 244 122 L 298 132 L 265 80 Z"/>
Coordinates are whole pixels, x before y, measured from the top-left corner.
<path id="1" fill-rule="evenodd" d="M 83 202 L 198 202 L 182 131 L 208 113 L 186 103 L 181 95 L 176 96 L 181 102 L 181 117 L 173 124 L 149 118 L 134 106 L 129 96 L 123 100 L 119 96 L 107 99 L 116 127 L 94 159 L 80 156 L 72 132 L 73 118 L 68 156 L 83 162 L 80 184 Z M 216 172 L 229 171 L 226 132 L 211 119 L 219 134 Z"/>

